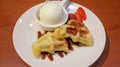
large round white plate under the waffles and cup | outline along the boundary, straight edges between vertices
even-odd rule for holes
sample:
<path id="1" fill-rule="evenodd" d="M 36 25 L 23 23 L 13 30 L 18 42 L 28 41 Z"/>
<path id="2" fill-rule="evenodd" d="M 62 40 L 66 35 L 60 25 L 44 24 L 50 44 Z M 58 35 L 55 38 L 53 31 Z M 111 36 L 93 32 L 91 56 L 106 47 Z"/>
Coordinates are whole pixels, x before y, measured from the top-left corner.
<path id="1" fill-rule="evenodd" d="M 51 62 L 48 58 L 41 60 L 41 58 L 34 58 L 31 51 L 32 43 L 37 39 L 36 32 L 31 27 L 34 12 L 41 6 L 38 4 L 27 10 L 17 21 L 13 31 L 14 47 L 18 55 L 28 65 L 34 67 L 86 67 L 93 64 L 102 54 L 106 42 L 106 34 L 104 27 L 98 17 L 86 7 L 70 3 L 67 10 L 74 12 L 80 6 L 87 15 L 85 25 L 91 32 L 93 37 L 92 47 L 79 47 L 74 51 L 68 53 L 64 58 L 54 55 L 54 61 Z M 33 22 L 32 22 L 33 23 Z"/>

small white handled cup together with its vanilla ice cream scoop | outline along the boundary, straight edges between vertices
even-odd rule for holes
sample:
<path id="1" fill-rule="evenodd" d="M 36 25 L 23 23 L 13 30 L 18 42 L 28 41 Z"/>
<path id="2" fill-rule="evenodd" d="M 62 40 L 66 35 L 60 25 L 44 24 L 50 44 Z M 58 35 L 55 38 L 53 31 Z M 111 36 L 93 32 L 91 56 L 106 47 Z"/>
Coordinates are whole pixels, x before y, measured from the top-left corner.
<path id="1" fill-rule="evenodd" d="M 66 23 L 68 12 L 63 1 L 46 1 L 35 14 L 35 21 L 39 23 L 41 29 L 53 31 L 55 28 Z"/>

